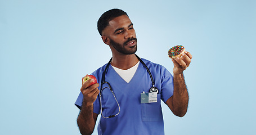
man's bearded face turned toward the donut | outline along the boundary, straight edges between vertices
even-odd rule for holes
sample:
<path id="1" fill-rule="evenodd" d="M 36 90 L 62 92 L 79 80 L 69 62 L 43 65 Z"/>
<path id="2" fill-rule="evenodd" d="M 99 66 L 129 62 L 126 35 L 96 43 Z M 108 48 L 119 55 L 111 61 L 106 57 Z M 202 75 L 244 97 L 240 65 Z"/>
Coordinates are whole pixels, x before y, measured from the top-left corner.
<path id="1" fill-rule="evenodd" d="M 112 51 L 122 53 L 124 55 L 131 55 L 137 51 L 137 38 L 133 24 L 127 15 L 115 17 L 109 22 L 102 37 L 107 37 Z M 103 38 L 102 38 L 103 39 Z"/>

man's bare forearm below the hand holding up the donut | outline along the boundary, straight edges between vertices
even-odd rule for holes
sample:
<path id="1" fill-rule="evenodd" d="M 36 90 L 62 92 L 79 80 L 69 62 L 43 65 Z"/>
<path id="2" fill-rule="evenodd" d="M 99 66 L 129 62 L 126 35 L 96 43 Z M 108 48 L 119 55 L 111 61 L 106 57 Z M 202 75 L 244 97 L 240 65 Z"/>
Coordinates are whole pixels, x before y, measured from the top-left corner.
<path id="1" fill-rule="evenodd" d="M 184 116 L 188 106 L 188 92 L 183 74 L 173 75 L 173 113 Z"/>

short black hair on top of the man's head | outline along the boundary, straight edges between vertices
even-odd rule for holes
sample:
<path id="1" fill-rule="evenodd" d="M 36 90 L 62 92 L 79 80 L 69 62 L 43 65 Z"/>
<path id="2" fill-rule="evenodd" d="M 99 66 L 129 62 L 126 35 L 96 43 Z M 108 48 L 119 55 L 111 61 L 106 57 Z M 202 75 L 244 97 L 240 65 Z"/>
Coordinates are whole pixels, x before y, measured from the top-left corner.
<path id="1" fill-rule="evenodd" d="M 98 24 L 97 24 L 98 33 L 102 35 L 102 31 L 106 28 L 107 25 L 109 25 L 109 21 L 113 20 L 115 17 L 119 17 L 122 15 L 127 15 L 127 13 L 117 8 L 114 8 L 112 10 L 109 10 L 103 13 L 100 19 L 98 19 Z"/>

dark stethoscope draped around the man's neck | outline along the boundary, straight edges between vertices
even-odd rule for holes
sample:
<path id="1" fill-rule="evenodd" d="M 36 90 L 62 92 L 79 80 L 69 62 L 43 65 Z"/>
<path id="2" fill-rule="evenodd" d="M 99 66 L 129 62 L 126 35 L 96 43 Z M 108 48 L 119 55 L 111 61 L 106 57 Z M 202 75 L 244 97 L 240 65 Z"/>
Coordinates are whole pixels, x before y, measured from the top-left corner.
<path id="1" fill-rule="evenodd" d="M 134 54 L 134 55 L 136 55 L 136 54 Z M 152 77 L 152 74 L 151 74 L 150 71 L 149 71 L 149 68 L 147 68 L 146 64 L 140 59 L 140 57 L 138 57 L 137 55 L 136 55 L 136 57 L 137 57 L 138 60 L 142 63 L 142 65 L 146 68 L 147 72 L 148 72 L 149 75 L 150 75 L 150 79 L 151 79 L 151 82 L 152 82 L 152 87 L 150 88 L 149 92 L 156 92 L 156 93 L 158 93 L 158 88 L 155 87 L 154 79 L 153 79 L 153 77 Z M 114 116 L 116 116 L 116 115 L 118 115 L 118 114 L 120 113 L 120 106 L 119 106 L 119 104 L 118 104 L 118 100 L 116 100 L 115 94 L 114 94 L 114 92 L 113 92 L 113 89 L 112 89 L 111 86 L 110 86 L 110 83 L 109 83 L 109 82 L 106 82 L 106 80 L 105 80 L 106 70 L 109 68 L 109 65 L 110 65 L 110 62 L 111 62 L 111 61 L 112 61 L 112 58 L 109 60 L 109 63 L 107 63 L 107 66 L 106 66 L 104 72 L 102 73 L 102 78 L 101 78 L 101 88 L 100 88 L 101 116 L 102 116 L 103 118 L 105 118 L 105 119 L 107 119 L 107 118 L 113 118 Z M 107 84 L 107 86 L 109 86 L 109 87 L 104 87 L 104 88 L 102 88 L 103 84 Z M 103 115 L 103 113 L 102 113 L 102 104 L 101 104 L 102 91 L 103 91 L 103 89 L 105 89 L 105 88 L 109 88 L 110 91 L 113 93 L 113 96 L 114 96 L 115 101 L 116 101 L 116 103 L 118 104 L 118 108 L 119 108 L 119 111 L 118 111 L 117 114 L 109 115 L 109 116 L 107 116 L 107 117 L 105 117 L 105 116 Z"/>

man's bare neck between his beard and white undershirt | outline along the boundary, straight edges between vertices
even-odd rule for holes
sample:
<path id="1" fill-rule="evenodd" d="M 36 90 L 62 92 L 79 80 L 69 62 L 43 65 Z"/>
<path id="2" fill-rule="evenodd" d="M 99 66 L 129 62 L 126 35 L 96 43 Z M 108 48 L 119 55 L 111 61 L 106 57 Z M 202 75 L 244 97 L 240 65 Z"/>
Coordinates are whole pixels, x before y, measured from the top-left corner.
<path id="1" fill-rule="evenodd" d="M 127 70 L 138 63 L 137 57 L 132 55 L 113 55 L 111 65 L 116 68 Z"/>

